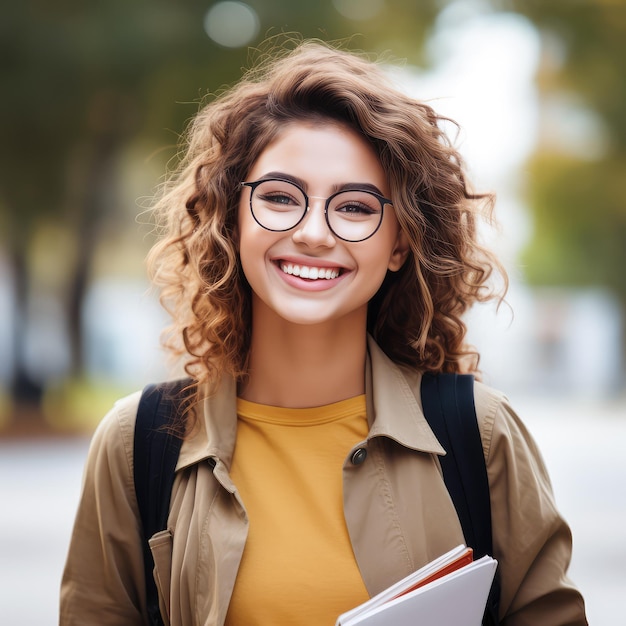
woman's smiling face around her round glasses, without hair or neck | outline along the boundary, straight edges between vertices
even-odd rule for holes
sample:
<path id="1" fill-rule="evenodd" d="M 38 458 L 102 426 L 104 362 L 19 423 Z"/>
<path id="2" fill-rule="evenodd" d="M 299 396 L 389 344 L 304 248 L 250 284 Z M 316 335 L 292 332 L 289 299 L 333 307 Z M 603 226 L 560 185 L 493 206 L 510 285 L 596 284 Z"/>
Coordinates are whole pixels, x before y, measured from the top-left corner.
<path id="1" fill-rule="evenodd" d="M 252 189 L 242 188 L 239 252 L 253 291 L 253 315 L 263 310 L 296 324 L 346 318 L 365 324 L 367 304 L 387 270 L 398 270 L 406 258 L 406 238 L 389 204 L 376 233 L 359 242 L 338 238 L 326 222 L 324 207 L 326 198 L 344 187 L 377 190 L 389 198 L 373 148 L 347 126 L 293 122 L 261 152 L 246 182 L 263 178 L 299 181 L 310 210 L 291 230 L 272 232 L 255 221 Z M 256 195 L 262 196 L 259 191 Z M 290 204 L 289 198 L 281 195 L 278 201 Z"/>

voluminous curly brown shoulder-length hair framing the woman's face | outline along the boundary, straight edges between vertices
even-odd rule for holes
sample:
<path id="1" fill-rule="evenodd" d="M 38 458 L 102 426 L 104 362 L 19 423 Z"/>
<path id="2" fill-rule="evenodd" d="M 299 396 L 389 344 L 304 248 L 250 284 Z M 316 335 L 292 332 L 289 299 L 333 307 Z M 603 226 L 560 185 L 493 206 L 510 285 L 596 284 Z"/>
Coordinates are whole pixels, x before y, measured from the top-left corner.
<path id="1" fill-rule="evenodd" d="M 319 41 L 273 52 L 202 107 L 180 164 L 155 210 L 164 237 L 148 263 L 173 322 L 164 343 L 196 382 L 246 374 L 250 288 L 236 245 L 239 183 L 285 124 L 348 125 L 376 150 L 410 255 L 370 303 L 368 330 L 397 363 L 424 371 L 476 371 L 463 315 L 501 298 L 490 276 L 506 273 L 480 243 L 491 194 L 473 193 L 444 132 L 446 118 L 396 89 L 381 64 Z"/>

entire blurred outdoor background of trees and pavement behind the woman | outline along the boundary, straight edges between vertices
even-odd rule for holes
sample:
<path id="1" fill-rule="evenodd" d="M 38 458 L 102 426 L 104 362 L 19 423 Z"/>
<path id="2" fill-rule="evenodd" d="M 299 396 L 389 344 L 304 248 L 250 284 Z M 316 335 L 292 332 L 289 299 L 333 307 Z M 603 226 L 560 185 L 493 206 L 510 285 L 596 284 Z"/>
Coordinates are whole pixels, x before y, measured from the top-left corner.
<path id="1" fill-rule="evenodd" d="M 592 624 L 626 590 L 626 2 L 24 0 L 0 21 L 0 610 L 57 621 L 89 436 L 167 376 L 147 208 L 199 102 L 300 33 L 457 120 L 510 308 L 468 316 L 539 441 Z M 399 62 L 402 60 L 402 62 Z M 621 495 L 620 495 L 621 494 Z"/>

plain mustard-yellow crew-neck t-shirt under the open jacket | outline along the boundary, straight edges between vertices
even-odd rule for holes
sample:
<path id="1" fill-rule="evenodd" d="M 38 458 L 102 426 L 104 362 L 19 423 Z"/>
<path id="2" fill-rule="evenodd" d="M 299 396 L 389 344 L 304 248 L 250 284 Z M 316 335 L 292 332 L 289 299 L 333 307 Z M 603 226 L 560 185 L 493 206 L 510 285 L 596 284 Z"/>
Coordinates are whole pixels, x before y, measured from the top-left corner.
<path id="1" fill-rule="evenodd" d="M 237 414 L 231 475 L 250 527 L 226 626 L 333 626 L 369 597 L 342 484 L 367 436 L 365 396 L 307 409 L 238 399 Z"/>

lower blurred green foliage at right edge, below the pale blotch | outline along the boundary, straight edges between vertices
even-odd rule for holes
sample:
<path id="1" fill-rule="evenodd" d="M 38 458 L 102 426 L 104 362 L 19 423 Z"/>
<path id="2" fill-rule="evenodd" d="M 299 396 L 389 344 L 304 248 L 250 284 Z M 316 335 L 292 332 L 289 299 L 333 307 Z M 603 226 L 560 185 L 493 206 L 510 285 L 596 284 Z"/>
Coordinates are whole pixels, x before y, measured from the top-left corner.
<path id="1" fill-rule="evenodd" d="M 535 284 L 602 285 L 626 298 L 626 161 L 534 159 L 529 204 L 534 236 L 525 253 Z"/>

